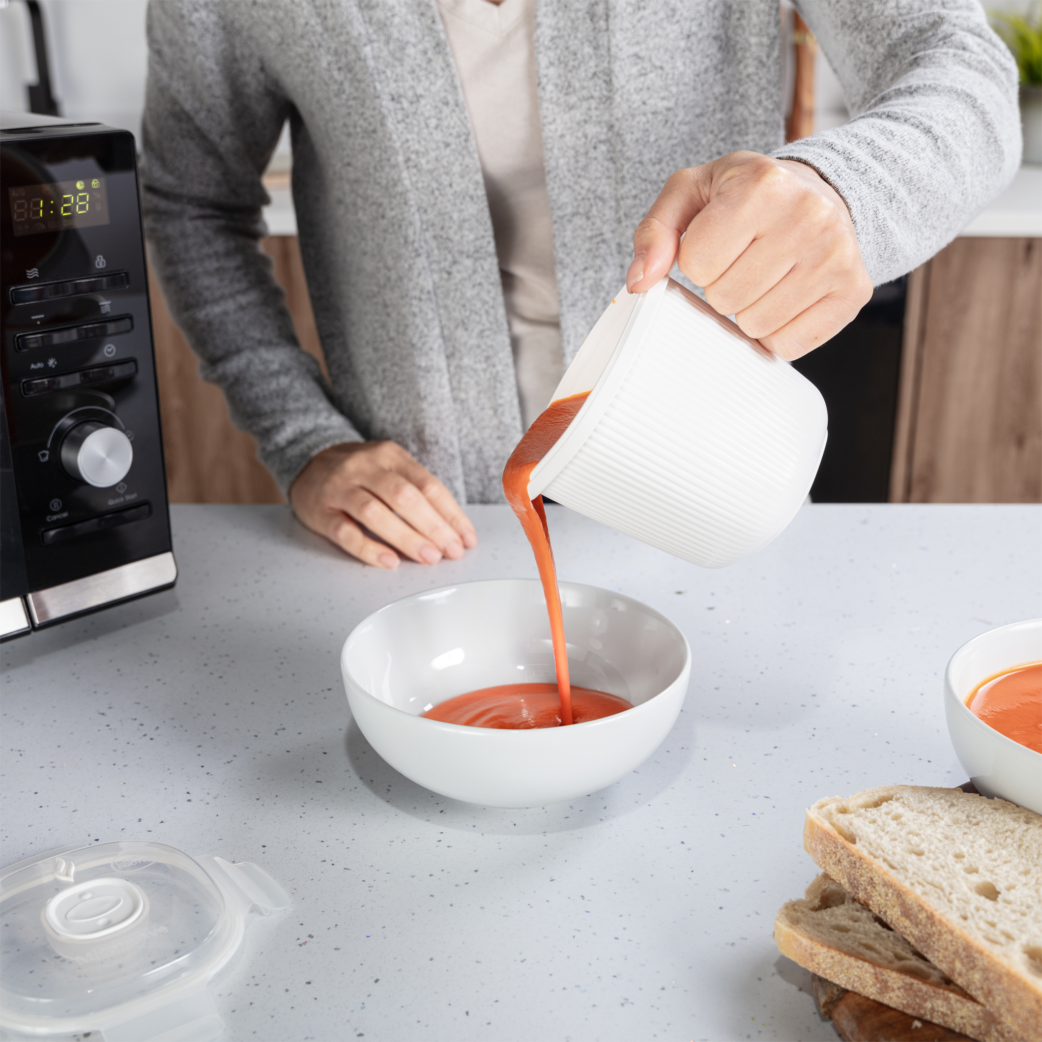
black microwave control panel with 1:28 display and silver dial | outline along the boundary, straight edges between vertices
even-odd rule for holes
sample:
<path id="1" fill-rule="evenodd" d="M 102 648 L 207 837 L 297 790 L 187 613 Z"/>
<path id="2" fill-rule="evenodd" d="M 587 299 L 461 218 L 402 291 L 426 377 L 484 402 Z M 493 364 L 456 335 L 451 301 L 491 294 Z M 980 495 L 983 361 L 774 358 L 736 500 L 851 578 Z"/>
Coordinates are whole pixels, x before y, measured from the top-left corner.
<path id="1" fill-rule="evenodd" d="M 133 137 L 5 131 L 0 152 L 5 600 L 171 543 Z"/>

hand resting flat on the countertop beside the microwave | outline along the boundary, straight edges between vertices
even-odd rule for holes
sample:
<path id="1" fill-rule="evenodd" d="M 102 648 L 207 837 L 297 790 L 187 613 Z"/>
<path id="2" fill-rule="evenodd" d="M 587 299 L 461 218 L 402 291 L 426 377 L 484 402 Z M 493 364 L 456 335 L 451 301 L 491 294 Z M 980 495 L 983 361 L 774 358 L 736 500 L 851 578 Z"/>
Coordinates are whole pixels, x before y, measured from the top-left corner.
<path id="1" fill-rule="evenodd" d="M 399 553 L 433 565 L 477 546 L 449 490 L 395 442 L 325 449 L 297 475 L 290 503 L 312 531 L 376 568 L 397 568 Z"/>

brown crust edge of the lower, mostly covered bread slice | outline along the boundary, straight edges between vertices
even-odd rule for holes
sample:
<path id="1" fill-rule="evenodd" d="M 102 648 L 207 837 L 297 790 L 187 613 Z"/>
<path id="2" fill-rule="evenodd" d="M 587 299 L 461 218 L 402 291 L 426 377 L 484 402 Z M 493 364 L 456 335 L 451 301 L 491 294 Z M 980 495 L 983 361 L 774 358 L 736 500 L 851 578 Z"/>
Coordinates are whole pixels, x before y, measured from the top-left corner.
<path id="1" fill-rule="evenodd" d="M 961 1032 L 977 1042 L 1020 1042 L 1010 1027 L 969 996 L 812 940 L 786 922 L 782 913 L 774 922 L 774 941 L 782 954 L 848 991 Z"/>

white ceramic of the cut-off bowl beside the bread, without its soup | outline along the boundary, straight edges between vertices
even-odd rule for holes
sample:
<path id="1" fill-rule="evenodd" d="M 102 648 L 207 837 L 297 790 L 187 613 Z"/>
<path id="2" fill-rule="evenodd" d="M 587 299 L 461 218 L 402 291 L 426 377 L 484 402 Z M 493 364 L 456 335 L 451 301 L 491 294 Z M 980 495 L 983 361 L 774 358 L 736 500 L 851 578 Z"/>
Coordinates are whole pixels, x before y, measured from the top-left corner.
<path id="1" fill-rule="evenodd" d="M 956 755 L 977 792 L 1042 814 L 1042 752 L 1000 735 L 966 708 L 982 680 L 1042 659 L 1042 619 L 1014 622 L 964 644 L 944 671 L 944 715 Z"/>

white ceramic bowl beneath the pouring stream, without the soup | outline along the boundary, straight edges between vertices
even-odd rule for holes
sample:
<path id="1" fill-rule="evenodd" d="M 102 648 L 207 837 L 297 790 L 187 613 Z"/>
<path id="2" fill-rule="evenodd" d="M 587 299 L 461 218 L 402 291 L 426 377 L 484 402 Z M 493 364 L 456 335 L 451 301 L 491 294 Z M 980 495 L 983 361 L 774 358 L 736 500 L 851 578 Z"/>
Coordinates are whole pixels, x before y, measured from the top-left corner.
<path id="1" fill-rule="evenodd" d="M 341 670 L 351 713 L 396 770 L 444 796 L 486 807 L 543 807 L 596 792 L 643 763 L 676 720 L 691 649 L 668 619 L 596 587 L 560 585 L 572 683 L 634 709 L 530 730 L 421 717 L 478 688 L 554 679 L 537 579 L 462 582 L 403 597 L 351 631 Z"/>

